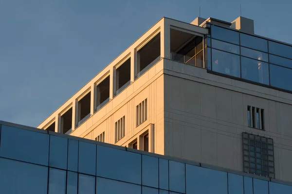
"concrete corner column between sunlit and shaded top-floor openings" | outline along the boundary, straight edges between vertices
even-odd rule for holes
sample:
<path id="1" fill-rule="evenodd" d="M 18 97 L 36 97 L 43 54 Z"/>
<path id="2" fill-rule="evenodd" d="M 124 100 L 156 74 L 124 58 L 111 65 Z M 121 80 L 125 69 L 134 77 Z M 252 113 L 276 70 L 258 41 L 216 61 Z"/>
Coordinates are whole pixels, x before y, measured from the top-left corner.
<path id="1" fill-rule="evenodd" d="M 170 24 L 167 18 L 163 19 L 160 36 L 160 55 L 162 58 L 170 59 Z"/>

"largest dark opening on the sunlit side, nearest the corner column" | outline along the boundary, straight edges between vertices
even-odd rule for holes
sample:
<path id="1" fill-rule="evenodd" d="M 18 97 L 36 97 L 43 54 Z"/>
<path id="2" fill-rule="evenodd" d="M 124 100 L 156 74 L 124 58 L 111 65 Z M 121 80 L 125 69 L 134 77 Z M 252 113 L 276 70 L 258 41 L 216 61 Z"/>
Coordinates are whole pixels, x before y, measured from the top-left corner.
<path id="1" fill-rule="evenodd" d="M 160 60 L 160 32 L 137 51 L 137 78 Z"/>

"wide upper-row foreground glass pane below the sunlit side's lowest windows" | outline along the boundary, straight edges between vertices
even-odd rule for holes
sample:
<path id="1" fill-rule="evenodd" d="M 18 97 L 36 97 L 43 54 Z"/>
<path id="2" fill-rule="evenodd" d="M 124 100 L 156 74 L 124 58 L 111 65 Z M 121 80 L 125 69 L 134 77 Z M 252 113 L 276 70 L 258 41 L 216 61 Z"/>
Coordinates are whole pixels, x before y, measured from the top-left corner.
<path id="1" fill-rule="evenodd" d="M 97 146 L 96 176 L 141 184 L 141 154 Z"/>

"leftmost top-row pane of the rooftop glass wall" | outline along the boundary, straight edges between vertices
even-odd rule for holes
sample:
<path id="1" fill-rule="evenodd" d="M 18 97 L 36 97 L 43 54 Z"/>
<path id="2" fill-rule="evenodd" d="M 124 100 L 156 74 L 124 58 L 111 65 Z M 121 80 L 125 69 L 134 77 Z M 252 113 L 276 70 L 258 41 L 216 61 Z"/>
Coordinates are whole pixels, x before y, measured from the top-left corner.
<path id="1" fill-rule="evenodd" d="M 239 33 L 211 25 L 211 37 L 239 45 Z"/>

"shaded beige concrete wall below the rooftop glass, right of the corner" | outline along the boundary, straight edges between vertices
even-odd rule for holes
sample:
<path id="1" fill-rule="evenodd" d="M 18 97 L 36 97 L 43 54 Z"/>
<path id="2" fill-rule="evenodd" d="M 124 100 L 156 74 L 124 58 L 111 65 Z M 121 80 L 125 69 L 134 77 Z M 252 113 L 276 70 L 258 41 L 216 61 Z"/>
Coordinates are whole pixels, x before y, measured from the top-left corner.
<path id="1" fill-rule="evenodd" d="M 265 130 L 248 127 L 247 106 Z M 164 60 L 165 155 L 243 171 L 242 132 L 274 139 L 275 177 L 292 181 L 292 94 Z"/>

